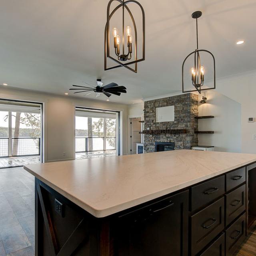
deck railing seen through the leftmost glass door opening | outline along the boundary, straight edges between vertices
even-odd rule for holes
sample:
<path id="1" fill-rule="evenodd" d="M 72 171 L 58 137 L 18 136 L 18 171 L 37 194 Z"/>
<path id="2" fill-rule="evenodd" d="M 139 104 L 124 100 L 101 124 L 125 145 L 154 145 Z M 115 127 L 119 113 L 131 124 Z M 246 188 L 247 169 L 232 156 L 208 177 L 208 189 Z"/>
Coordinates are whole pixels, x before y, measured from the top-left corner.
<path id="1" fill-rule="evenodd" d="M 10 154 L 9 138 L 0 138 L 0 157 L 8 157 L 40 155 L 40 137 L 12 138 L 12 150 Z"/>

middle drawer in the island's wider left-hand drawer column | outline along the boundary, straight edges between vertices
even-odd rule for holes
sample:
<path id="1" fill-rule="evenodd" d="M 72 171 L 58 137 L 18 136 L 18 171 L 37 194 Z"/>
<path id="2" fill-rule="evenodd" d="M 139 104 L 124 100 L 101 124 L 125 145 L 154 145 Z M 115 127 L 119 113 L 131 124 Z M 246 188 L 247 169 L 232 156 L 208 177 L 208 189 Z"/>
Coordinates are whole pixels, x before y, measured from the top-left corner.
<path id="1" fill-rule="evenodd" d="M 196 255 L 224 230 L 224 197 L 191 217 L 191 254 Z"/>

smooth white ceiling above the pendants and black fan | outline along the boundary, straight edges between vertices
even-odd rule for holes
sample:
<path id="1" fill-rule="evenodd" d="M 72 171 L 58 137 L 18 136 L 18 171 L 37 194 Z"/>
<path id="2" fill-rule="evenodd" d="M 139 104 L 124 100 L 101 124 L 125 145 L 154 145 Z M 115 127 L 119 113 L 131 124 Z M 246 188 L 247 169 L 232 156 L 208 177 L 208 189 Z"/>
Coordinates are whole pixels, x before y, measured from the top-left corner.
<path id="1" fill-rule="evenodd" d="M 214 54 L 216 78 L 256 70 L 255 0 L 139 2 L 146 14 L 146 60 L 135 74 L 104 71 L 107 0 L 1 1 L 0 84 L 63 95 L 72 84 L 102 78 L 126 86 L 127 94 L 110 98 L 122 103 L 177 92 L 182 62 L 196 48 L 195 10 L 203 12 L 199 48 Z M 241 39 L 245 43 L 236 45 Z"/>

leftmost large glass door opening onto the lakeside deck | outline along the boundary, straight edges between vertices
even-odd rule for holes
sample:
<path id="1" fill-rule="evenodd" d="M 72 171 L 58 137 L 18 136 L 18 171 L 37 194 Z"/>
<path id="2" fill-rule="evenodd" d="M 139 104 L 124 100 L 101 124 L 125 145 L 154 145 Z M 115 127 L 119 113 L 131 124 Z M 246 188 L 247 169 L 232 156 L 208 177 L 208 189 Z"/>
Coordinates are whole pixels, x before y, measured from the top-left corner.
<path id="1" fill-rule="evenodd" d="M 0 168 L 41 162 L 41 104 L 0 100 Z"/>

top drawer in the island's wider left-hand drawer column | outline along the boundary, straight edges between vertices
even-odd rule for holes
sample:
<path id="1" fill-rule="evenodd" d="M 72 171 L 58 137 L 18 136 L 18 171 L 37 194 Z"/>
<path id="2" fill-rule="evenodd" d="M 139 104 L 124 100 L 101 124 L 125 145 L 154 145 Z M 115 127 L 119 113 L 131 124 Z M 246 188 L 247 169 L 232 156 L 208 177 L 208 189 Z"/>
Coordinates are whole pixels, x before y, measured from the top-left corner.
<path id="1" fill-rule="evenodd" d="M 225 176 L 206 181 L 191 188 L 191 211 L 225 193 Z"/>

